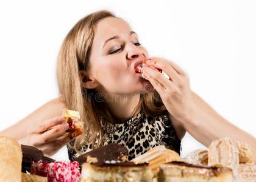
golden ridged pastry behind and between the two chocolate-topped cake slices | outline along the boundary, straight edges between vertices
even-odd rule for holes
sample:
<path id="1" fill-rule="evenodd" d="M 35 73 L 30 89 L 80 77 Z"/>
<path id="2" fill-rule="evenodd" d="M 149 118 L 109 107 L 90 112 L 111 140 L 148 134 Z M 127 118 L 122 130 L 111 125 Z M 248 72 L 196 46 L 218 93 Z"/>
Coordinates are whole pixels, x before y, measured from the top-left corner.
<path id="1" fill-rule="evenodd" d="M 149 163 L 149 168 L 156 175 L 161 164 L 180 160 L 179 154 L 174 150 L 166 149 L 165 146 L 156 146 L 132 161 L 137 164 Z"/>

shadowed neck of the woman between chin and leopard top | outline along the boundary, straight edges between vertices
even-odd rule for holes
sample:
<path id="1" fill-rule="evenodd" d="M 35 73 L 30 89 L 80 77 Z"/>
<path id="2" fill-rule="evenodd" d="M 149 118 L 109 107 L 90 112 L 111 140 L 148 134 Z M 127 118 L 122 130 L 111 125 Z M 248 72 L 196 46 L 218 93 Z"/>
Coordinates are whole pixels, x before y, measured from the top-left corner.
<path id="1" fill-rule="evenodd" d="M 133 113 L 140 102 L 140 93 L 137 94 L 113 94 L 108 95 L 105 98 L 105 104 L 112 116 L 118 121 L 118 123 L 124 123 L 132 116 L 137 115 L 140 110 Z"/>

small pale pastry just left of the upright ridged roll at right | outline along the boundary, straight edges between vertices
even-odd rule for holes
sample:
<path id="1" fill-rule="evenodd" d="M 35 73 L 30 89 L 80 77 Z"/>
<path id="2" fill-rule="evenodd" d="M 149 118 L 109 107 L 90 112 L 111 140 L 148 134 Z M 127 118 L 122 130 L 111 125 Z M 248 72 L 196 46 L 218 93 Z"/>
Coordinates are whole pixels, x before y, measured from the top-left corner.
<path id="1" fill-rule="evenodd" d="M 185 157 L 187 163 L 190 164 L 208 164 L 208 150 L 197 149 L 193 152 L 188 153 L 187 157 Z"/>

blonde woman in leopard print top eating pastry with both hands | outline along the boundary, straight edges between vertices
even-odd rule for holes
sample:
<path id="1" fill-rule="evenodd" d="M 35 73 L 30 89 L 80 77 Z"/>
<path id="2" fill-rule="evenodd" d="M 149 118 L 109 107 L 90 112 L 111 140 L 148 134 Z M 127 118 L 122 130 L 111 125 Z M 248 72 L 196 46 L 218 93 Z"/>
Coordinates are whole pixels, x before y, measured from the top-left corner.
<path id="1" fill-rule="evenodd" d="M 174 62 L 152 57 L 143 77 L 134 69 L 148 52 L 126 21 L 108 11 L 80 19 L 63 41 L 57 79 L 60 97 L 3 130 L 21 144 L 35 146 L 47 156 L 68 144 L 69 159 L 108 143 L 129 150 L 129 160 L 159 144 L 180 153 L 189 132 L 208 146 L 229 136 L 252 146 L 252 135 L 225 120 L 190 89 L 190 81 Z M 144 79 L 146 78 L 146 79 Z M 84 133 L 75 140 L 65 133 L 64 108 L 78 110 Z"/>

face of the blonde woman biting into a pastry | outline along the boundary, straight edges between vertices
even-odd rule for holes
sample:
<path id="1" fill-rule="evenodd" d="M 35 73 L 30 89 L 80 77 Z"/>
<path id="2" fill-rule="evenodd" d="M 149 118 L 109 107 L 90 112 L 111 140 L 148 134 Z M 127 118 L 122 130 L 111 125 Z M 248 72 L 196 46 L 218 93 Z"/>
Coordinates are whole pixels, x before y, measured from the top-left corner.
<path id="1" fill-rule="evenodd" d="M 108 17 L 98 22 L 91 49 L 89 72 L 98 81 L 101 93 L 141 93 L 149 81 L 134 68 L 148 52 L 138 35 L 123 19 Z"/>

